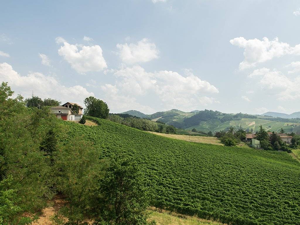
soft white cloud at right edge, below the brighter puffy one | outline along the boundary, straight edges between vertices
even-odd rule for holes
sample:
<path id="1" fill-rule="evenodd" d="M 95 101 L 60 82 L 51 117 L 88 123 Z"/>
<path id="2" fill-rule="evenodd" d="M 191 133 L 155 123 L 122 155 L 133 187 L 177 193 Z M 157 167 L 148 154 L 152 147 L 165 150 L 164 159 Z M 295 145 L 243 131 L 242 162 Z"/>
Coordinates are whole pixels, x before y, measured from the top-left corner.
<path id="1" fill-rule="evenodd" d="M 254 70 L 249 77 L 255 77 L 262 90 L 274 95 L 278 100 L 292 101 L 300 99 L 300 76 L 294 79 L 277 70 L 261 68 Z"/>

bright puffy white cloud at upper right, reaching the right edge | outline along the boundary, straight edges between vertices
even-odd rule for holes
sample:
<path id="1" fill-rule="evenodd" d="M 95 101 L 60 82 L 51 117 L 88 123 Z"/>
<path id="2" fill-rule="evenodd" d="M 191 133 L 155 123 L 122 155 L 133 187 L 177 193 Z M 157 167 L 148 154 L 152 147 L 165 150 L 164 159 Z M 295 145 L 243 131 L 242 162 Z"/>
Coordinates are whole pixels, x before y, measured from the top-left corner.
<path id="1" fill-rule="evenodd" d="M 278 38 L 249 39 L 243 37 L 230 40 L 232 45 L 244 48 L 244 61 L 239 64 L 241 70 L 254 67 L 259 63 L 271 60 L 287 54 L 300 54 L 300 44 L 291 47 L 289 44 L 279 42 Z"/>

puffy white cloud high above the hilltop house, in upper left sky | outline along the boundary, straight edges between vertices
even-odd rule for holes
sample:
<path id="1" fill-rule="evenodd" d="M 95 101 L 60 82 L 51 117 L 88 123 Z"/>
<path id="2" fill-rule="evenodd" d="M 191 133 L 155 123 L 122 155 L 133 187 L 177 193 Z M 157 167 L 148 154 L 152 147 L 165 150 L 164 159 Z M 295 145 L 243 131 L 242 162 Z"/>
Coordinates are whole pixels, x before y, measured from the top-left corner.
<path id="1" fill-rule="evenodd" d="M 78 47 L 81 48 L 80 51 Z M 58 55 L 63 56 L 78 73 L 101 71 L 107 67 L 99 45 L 80 46 L 65 41 L 64 45 L 58 49 Z"/>

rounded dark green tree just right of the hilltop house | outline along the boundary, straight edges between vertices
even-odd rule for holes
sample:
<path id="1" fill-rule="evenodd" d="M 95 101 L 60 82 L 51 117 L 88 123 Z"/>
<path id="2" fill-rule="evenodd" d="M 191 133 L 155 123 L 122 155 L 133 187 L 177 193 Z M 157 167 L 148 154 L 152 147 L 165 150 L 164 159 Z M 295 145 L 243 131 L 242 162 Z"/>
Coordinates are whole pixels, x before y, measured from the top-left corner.
<path id="1" fill-rule="evenodd" d="M 93 96 L 85 98 L 84 104 L 86 107 L 84 110 L 84 114 L 88 116 L 106 119 L 110 112 L 107 104 L 104 101 Z"/>

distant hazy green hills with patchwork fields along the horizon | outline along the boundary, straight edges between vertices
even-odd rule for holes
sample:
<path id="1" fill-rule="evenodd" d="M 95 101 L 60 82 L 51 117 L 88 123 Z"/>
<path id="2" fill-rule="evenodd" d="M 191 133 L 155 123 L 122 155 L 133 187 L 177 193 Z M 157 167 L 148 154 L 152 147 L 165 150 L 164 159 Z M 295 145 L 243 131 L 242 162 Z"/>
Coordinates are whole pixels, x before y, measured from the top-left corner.
<path id="1" fill-rule="evenodd" d="M 292 113 L 290 115 L 284 113 L 265 113 L 259 116 L 244 113 L 221 113 L 213 110 L 193 110 L 187 113 L 176 109 L 157 112 L 151 115 L 146 115 L 137 110 L 129 110 L 124 113 L 173 125 L 176 128 L 188 131 L 196 129 L 197 131 L 215 133 L 232 126 L 235 129 L 242 128 L 246 131 L 256 132 L 260 125 L 267 131 L 277 132 L 281 128 L 287 133 L 299 133 L 300 131 L 300 119 L 293 119 L 300 117 L 298 115 L 300 113 Z"/>

